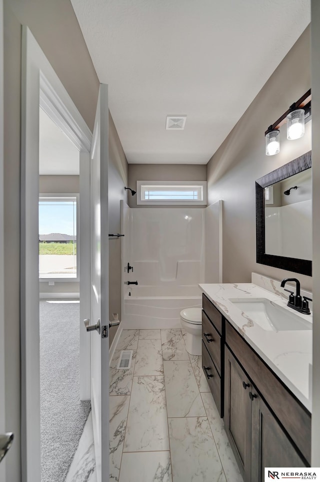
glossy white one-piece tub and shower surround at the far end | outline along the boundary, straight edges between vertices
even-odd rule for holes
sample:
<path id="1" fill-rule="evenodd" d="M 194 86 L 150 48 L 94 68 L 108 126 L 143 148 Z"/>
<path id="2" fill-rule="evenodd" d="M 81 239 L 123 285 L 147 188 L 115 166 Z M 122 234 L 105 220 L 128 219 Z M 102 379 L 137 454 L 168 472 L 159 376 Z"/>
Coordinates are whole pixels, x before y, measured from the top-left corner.
<path id="1" fill-rule="evenodd" d="M 220 281 L 220 211 L 219 202 L 133 209 L 123 203 L 123 329 L 181 328 L 180 311 L 201 307 L 198 283 Z"/>

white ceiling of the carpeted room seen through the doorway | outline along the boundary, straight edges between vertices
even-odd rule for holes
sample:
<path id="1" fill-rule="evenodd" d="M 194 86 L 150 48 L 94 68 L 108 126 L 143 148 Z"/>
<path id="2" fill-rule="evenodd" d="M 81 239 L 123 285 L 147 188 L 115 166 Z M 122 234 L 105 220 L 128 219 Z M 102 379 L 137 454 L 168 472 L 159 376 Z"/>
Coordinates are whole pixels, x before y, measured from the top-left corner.
<path id="1" fill-rule="evenodd" d="M 79 151 L 39 108 L 39 174 L 79 174 Z"/>

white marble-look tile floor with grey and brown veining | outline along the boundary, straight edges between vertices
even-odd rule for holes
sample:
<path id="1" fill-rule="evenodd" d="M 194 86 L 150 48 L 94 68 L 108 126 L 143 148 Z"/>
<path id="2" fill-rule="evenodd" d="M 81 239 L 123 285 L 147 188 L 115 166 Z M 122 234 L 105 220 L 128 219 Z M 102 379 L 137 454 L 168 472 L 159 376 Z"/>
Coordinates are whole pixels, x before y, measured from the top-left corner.
<path id="1" fill-rule="evenodd" d="M 201 357 L 186 352 L 183 334 L 122 331 L 109 371 L 109 480 L 243 482 Z M 129 370 L 115 368 L 123 349 L 133 350 Z M 65 482 L 95 482 L 92 434 L 86 438 L 91 451 L 82 448 Z"/>

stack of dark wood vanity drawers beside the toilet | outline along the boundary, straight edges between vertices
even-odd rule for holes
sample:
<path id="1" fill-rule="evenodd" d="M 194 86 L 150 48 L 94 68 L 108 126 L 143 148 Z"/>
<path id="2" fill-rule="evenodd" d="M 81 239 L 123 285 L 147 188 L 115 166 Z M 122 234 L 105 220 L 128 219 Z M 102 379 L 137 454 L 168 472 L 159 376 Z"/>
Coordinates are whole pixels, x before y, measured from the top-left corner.
<path id="1" fill-rule="evenodd" d="M 202 369 L 223 417 L 224 319 L 205 295 L 202 295 L 202 308 Z"/>

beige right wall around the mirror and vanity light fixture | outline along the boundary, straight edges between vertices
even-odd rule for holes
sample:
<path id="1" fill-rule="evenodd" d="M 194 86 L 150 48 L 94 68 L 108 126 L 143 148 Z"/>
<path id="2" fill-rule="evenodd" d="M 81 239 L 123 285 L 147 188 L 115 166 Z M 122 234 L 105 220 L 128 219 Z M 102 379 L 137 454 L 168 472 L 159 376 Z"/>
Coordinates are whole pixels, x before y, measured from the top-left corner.
<path id="1" fill-rule="evenodd" d="M 307 28 L 207 164 L 208 204 L 223 199 L 224 283 L 249 282 L 253 271 L 278 280 L 292 276 L 255 262 L 254 181 L 311 148 L 310 135 L 287 141 L 282 127 L 279 154 L 264 151 L 264 131 L 310 88 L 309 58 Z M 312 288 L 310 277 L 297 277 Z"/>

